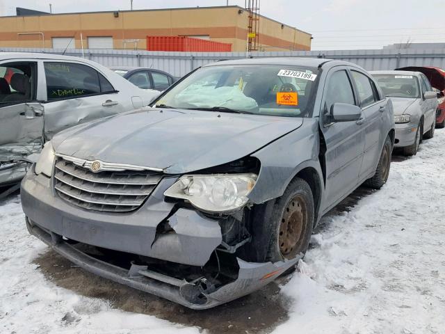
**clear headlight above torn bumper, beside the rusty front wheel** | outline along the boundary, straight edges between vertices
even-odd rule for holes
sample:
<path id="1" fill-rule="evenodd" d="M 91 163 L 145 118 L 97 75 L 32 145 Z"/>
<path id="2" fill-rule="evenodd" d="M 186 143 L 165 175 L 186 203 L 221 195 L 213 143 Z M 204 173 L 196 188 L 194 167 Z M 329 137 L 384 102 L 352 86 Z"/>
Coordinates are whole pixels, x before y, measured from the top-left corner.
<path id="1" fill-rule="evenodd" d="M 257 175 L 184 175 L 164 193 L 188 200 L 204 212 L 232 212 L 248 202 Z"/>

